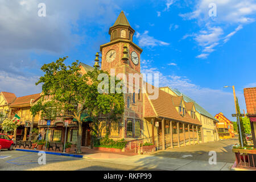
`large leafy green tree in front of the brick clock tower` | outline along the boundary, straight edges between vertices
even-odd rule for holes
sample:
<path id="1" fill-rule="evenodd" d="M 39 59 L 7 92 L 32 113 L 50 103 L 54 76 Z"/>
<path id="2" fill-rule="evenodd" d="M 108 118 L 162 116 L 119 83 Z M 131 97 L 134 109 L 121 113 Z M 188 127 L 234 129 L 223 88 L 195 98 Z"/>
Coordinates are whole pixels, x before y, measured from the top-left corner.
<path id="1" fill-rule="evenodd" d="M 36 115 L 40 112 L 44 119 L 51 120 L 57 117 L 64 119 L 65 116 L 75 118 L 79 127 L 77 153 L 81 154 L 82 122 L 86 122 L 86 118 L 92 118 L 96 126 L 94 133 L 97 133 L 99 115 L 116 118 L 123 113 L 123 94 L 110 93 L 110 77 L 107 72 L 95 68 L 92 72 L 81 75 L 79 61 L 65 65 L 65 59 L 67 57 L 44 64 L 41 68 L 45 74 L 36 85 L 42 84 L 42 97 L 31 107 L 31 113 Z M 98 80 L 98 76 L 101 73 L 108 76 L 108 86 L 103 86 L 105 93 L 98 92 L 98 84 L 102 81 Z M 115 85 L 119 84 L 120 80 L 114 80 Z M 81 117 L 82 114 L 87 116 Z"/>

